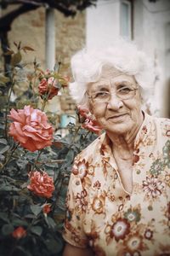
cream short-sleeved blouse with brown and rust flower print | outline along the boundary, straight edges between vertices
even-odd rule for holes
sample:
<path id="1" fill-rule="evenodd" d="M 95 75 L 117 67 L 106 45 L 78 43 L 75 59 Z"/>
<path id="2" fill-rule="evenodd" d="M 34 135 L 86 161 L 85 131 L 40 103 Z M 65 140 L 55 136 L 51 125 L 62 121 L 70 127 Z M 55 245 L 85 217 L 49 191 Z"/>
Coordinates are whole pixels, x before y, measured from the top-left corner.
<path id="1" fill-rule="evenodd" d="M 92 247 L 98 256 L 170 255 L 170 120 L 144 113 L 132 194 L 102 134 L 77 155 L 66 205 L 63 237 L 73 246 Z"/>

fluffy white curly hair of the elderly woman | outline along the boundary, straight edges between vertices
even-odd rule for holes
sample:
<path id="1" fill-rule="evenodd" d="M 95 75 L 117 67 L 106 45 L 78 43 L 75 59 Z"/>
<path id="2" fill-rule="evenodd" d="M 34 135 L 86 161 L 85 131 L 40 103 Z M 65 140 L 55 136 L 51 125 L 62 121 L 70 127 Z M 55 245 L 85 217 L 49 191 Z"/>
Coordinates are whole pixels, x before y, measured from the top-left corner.
<path id="1" fill-rule="evenodd" d="M 156 77 L 153 61 L 133 42 L 119 39 L 108 47 L 84 48 L 72 56 L 71 71 L 74 82 L 69 84 L 69 88 L 78 105 L 88 106 L 87 85 L 99 80 L 105 66 L 133 75 L 139 84 L 143 100 L 147 101 Z"/>

